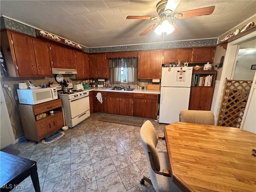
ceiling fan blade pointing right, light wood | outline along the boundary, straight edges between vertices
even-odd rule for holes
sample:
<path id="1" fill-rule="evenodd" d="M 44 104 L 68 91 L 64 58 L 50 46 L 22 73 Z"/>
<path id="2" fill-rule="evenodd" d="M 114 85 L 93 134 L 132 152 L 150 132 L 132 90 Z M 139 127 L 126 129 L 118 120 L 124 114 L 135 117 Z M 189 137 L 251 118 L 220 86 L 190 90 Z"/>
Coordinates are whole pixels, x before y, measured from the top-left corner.
<path id="1" fill-rule="evenodd" d="M 174 15 L 174 18 L 175 19 L 184 19 L 184 18 L 190 18 L 190 17 L 210 15 L 214 11 L 214 8 L 215 8 L 215 6 L 209 6 L 209 7 L 179 12 Z"/>

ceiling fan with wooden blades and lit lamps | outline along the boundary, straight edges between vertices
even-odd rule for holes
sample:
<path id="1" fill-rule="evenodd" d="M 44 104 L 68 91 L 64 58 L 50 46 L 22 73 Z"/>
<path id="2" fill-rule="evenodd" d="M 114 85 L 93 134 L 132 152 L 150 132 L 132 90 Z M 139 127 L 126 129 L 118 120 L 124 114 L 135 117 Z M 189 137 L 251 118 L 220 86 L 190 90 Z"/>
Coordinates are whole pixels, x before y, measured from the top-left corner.
<path id="1" fill-rule="evenodd" d="M 161 34 L 162 32 L 166 32 L 170 34 L 173 32 L 174 34 L 179 34 L 180 29 L 178 26 L 173 22 L 170 21 L 172 19 L 184 19 L 184 18 L 191 18 L 197 16 L 204 16 L 210 15 L 214 11 L 215 6 L 208 6 L 204 8 L 198 8 L 183 12 L 174 13 L 174 10 L 178 6 L 181 0 L 161 0 L 156 4 L 156 11 L 158 13 L 158 17 L 156 16 L 127 16 L 126 19 L 151 19 L 151 20 L 160 20 L 156 22 L 149 28 L 147 28 L 144 32 L 140 34 L 146 35 L 151 30 L 154 30 L 155 33 Z"/>

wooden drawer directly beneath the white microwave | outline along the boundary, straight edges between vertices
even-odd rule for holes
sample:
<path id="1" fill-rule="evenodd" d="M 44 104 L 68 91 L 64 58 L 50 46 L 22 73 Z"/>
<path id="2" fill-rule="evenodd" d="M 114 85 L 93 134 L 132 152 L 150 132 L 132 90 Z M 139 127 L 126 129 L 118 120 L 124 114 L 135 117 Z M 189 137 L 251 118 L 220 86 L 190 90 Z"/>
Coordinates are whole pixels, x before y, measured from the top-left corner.
<path id="1" fill-rule="evenodd" d="M 45 102 L 45 103 L 41 103 L 41 104 L 37 104 L 35 106 L 33 106 L 33 110 L 34 110 L 34 114 L 38 115 L 41 114 L 43 112 L 47 112 L 50 110 L 54 110 L 55 108 L 61 107 L 61 100 L 53 100 L 53 101 L 49 101 L 49 102 Z"/>

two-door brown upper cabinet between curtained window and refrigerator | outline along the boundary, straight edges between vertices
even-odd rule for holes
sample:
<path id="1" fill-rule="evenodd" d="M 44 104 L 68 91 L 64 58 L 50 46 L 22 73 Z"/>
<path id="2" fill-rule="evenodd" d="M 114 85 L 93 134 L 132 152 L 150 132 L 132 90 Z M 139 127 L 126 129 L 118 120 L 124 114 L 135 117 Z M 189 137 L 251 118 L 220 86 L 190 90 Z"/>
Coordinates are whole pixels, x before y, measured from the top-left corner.
<path id="1" fill-rule="evenodd" d="M 138 63 L 138 78 L 160 79 L 161 66 L 161 50 L 141 51 Z"/>

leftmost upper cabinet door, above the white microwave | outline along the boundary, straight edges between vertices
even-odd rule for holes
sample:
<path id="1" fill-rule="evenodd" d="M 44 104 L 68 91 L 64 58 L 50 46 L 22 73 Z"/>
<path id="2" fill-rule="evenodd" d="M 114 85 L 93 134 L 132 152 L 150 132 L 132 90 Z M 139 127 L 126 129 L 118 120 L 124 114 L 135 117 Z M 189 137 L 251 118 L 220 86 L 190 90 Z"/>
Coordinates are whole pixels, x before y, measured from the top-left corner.
<path id="1" fill-rule="evenodd" d="M 38 73 L 32 38 L 13 32 L 11 34 L 19 75 L 36 76 Z"/>

